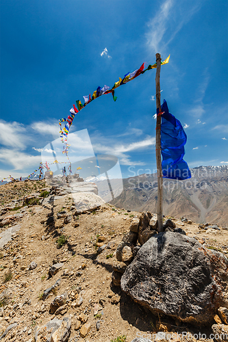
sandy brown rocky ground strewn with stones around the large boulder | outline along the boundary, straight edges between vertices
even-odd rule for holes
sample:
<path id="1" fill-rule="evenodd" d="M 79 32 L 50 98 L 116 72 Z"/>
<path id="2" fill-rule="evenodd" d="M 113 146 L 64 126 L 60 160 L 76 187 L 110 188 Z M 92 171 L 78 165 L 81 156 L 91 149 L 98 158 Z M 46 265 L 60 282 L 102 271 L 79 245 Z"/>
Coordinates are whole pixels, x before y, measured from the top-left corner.
<path id="1" fill-rule="evenodd" d="M 53 342 L 110 342 L 123 335 L 131 342 L 167 331 L 165 318 L 145 312 L 112 284 L 116 248 L 140 213 L 105 204 L 94 192 L 79 196 L 76 210 L 71 193 L 44 181 L 0 187 L 0 341 L 47 341 L 49 321 L 60 326 Z M 228 253 L 226 228 L 172 220 L 203 246 Z M 199 334 L 194 326 L 168 328 Z"/>

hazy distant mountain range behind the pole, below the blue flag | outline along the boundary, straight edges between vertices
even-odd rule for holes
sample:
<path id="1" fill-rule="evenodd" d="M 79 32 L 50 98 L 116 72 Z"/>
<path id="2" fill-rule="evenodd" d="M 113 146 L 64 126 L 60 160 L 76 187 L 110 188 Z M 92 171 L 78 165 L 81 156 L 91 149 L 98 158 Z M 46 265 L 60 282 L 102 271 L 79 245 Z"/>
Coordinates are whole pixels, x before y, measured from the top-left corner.
<path id="1" fill-rule="evenodd" d="M 186 181 L 164 179 L 164 215 L 228 226 L 228 166 L 199 166 L 191 169 L 191 173 L 192 178 Z M 155 213 L 157 174 L 123 179 L 123 192 L 110 203 L 119 208 Z"/>

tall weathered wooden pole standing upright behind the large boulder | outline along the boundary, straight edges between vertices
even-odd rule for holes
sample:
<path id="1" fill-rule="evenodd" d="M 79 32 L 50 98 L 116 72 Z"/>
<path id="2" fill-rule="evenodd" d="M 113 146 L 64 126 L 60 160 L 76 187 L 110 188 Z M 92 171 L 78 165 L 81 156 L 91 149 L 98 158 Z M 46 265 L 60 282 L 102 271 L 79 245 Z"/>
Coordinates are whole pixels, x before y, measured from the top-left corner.
<path id="1" fill-rule="evenodd" d="M 161 92 L 160 92 L 160 70 L 161 70 L 161 55 L 156 53 L 157 71 L 156 71 L 156 106 L 157 113 L 161 111 Z M 162 213 L 162 199 L 163 199 L 163 179 L 162 179 L 162 157 L 161 157 L 161 123 L 162 116 L 157 115 L 156 122 L 156 161 L 157 161 L 157 231 L 163 231 L 163 213 Z"/>

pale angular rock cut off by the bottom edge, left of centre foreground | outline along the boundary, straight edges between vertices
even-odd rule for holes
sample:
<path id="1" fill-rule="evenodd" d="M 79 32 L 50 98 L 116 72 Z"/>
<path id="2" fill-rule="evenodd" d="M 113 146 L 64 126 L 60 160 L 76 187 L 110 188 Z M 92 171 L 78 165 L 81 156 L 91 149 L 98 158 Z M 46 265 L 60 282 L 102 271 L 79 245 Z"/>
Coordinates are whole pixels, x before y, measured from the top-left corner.
<path id="1" fill-rule="evenodd" d="M 64 317 L 64 319 L 58 319 L 55 317 L 42 328 L 36 329 L 34 341 L 66 342 L 70 334 L 71 318 Z"/>

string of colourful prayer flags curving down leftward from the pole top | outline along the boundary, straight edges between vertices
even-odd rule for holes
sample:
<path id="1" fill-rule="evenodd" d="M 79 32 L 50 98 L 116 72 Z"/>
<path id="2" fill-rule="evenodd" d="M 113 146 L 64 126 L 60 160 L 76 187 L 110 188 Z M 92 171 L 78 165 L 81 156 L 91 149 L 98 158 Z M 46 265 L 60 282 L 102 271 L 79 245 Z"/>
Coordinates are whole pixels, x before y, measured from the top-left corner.
<path id="1" fill-rule="evenodd" d="M 169 57 L 170 55 L 166 58 L 166 60 L 164 60 L 161 65 L 167 64 L 169 61 Z M 98 98 L 101 95 L 104 94 L 112 94 L 112 97 L 114 99 L 114 101 L 116 101 L 116 96 L 115 96 L 115 89 L 118 88 L 119 86 L 122 86 L 123 84 L 126 84 L 127 82 L 131 81 L 132 79 L 135 79 L 136 77 L 138 77 L 139 75 L 144 74 L 147 70 L 151 70 L 157 68 L 157 63 L 151 65 L 149 64 L 148 68 L 144 70 L 144 63 L 140 66 L 140 68 L 134 70 L 133 72 L 129 72 L 127 73 L 123 79 L 121 79 L 121 77 L 119 77 L 119 80 L 117 82 L 114 83 L 114 86 L 112 88 L 108 87 L 108 86 L 103 86 L 103 88 L 98 87 L 97 90 L 94 90 L 94 92 L 92 93 L 92 97 L 91 94 L 83 96 L 84 97 L 84 105 L 82 105 L 81 101 L 77 100 L 76 101 L 76 105 L 73 105 L 73 107 L 70 109 L 70 115 L 67 118 L 62 118 L 59 120 L 59 124 L 60 124 L 60 138 L 62 143 L 64 144 L 63 146 L 63 151 L 62 153 L 66 154 L 67 159 L 68 158 L 68 148 L 71 146 L 70 144 L 68 144 L 67 139 L 68 139 L 68 133 L 71 127 L 71 124 L 73 123 L 73 119 L 75 118 L 75 115 L 84 107 L 86 107 L 86 105 L 88 105 L 88 103 L 92 102 L 95 98 Z M 64 127 L 62 127 L 62 123 L 66 122 L 64 124 Z"/>

